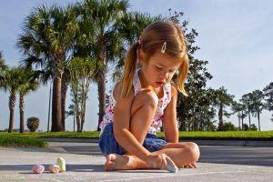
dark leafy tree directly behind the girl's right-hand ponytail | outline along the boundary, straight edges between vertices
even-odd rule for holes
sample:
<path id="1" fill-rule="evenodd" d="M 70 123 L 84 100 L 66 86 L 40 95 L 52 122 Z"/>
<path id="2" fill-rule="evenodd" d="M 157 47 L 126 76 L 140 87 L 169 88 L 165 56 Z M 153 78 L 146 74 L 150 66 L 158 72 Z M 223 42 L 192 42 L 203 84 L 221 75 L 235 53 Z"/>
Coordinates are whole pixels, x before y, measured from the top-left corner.
<path id="1" fill-rule="evenodd" d="M 177 119 L 180 130 L 202 130 L 215 114 L 215 109 L 211 106 L 213 96 L 210 89 L 207 89 L 207 80 L 212 76 L 207 72 L 207 61 L 198 60 L 194 57 L 195 52 L 199 49 L 195 44 L 198 35 L 196 29 L 187 29 L 188 21 L 181 22 L 182 12 L 172 12 L 169 10 L 171 21 L 181 25 L 187 38 L 187 54 L 189 58 L 189 72 L 185 84 L 188 96 L 178 94 L 177 97 Z"/>

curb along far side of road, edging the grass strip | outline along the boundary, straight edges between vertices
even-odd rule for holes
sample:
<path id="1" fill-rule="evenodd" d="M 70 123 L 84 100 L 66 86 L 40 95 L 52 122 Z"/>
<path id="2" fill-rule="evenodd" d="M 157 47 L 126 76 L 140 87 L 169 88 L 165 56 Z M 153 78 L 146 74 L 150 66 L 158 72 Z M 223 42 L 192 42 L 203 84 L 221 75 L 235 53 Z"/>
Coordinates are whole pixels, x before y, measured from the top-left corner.
<path id="1" fill-rule="evenodd" d="M 97 143 L 97 138 L 43 138 L 46 142 Z M 198 146 L 232 146 L 232 147 L 273 147 L 273 141 L 264 140 L 202 140 L 186 139 L 180 142 L 194 142 Z"/>

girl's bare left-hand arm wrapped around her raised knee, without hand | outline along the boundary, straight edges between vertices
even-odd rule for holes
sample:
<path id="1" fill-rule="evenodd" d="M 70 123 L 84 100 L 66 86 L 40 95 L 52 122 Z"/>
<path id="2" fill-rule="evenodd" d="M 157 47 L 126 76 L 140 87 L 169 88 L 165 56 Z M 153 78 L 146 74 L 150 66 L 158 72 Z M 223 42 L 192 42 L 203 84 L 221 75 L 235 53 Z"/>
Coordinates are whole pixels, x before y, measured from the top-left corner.
<path id="1" fill-rule="evenodd" d="M 120 90 L 120 84 L 116 85 L 116 92 L 114 92 L 114 94 L 116 93 L 116 98 L 119 96 Z M 131 106 L 134 97 L 135 94 L 132 91 L 126 98 L 116 99 L 113 123 L 114 135 L 118 144 L 124 147 L 126 151 L 128 151 L 130 154 L 136 155 L 136 157 L 146 160 L 150 155 L 150 152 L 139 144 L 136 137 L 129 131 Z"/>

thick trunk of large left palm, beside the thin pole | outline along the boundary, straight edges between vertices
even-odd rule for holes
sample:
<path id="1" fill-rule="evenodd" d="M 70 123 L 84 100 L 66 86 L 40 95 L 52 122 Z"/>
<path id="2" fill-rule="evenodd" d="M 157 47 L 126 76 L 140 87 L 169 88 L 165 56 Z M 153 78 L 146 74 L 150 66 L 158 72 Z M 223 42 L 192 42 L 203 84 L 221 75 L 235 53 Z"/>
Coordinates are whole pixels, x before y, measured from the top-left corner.
<path id="1" fill-rule="evenodd" d="M 52 125 L 51 131 L 64 131 L 62 125 L 62 110 L 61 110 L 61 82 L 62 79 L 56 76 L 53 80 L 52 90 Z"/>

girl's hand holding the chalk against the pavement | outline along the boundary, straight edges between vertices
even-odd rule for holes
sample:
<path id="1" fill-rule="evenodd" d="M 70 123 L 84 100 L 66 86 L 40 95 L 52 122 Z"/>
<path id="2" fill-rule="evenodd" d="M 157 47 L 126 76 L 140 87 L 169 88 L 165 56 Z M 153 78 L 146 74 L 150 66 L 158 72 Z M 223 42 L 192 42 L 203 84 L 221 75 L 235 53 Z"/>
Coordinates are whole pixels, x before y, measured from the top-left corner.
<path id="1" fill-rule="evenodd" d="M 163 169 L 167 167 L 166 157 L 166 154 L 150 154 L 146 161 L 153 168 Z"/>

